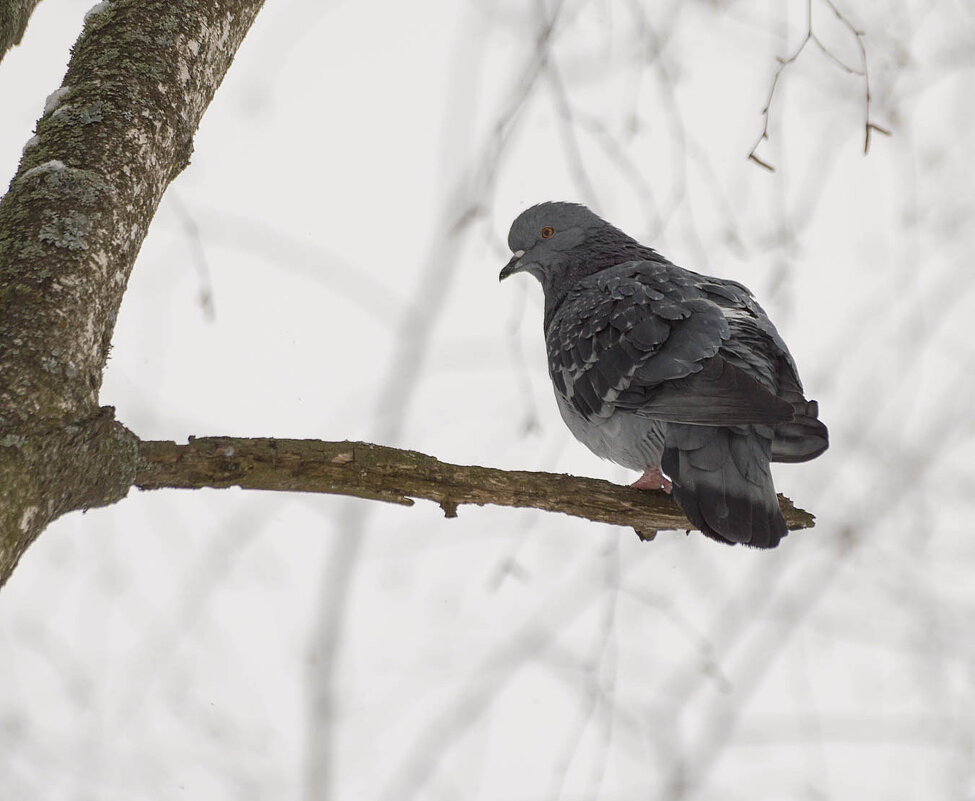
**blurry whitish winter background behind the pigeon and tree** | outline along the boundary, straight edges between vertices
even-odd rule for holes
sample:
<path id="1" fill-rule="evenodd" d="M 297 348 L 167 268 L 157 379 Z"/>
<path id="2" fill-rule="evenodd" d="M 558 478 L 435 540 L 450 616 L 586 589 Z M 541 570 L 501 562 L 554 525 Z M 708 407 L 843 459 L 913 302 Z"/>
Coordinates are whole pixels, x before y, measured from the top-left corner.
<path id="1" fill-rule="evenodd" d="M 975 10 L 269 2 L 129 283 L 146 439 L 633 476 L 558 418 L 511 220 L 750 286 L 831 448 L 773 552 L 530 510 L 133 490 L 0 591 L 0 798 L 975 799 Z M 0 64 L 0 175 L 89 2 Z M 3 180 L 7 180 L 4 178 Z"/>

